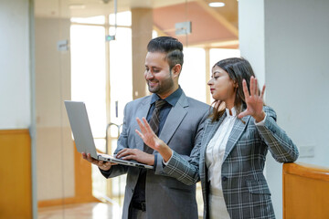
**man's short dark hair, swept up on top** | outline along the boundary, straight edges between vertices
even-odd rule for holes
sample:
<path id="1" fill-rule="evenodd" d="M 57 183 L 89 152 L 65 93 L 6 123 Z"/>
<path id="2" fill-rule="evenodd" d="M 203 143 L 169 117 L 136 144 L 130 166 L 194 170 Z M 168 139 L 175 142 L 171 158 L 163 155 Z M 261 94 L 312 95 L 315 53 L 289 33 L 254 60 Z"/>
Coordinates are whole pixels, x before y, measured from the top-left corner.
<path id="1" fill-rule="evenodd" d="M 165 53 L 165 59 L 169 64 L 170 70 L 176 64 L 180 64 L 183 67 L 183 44 L 174 37 L 159 36 L 152 39 L 147 45 L 147 51 Z"/>

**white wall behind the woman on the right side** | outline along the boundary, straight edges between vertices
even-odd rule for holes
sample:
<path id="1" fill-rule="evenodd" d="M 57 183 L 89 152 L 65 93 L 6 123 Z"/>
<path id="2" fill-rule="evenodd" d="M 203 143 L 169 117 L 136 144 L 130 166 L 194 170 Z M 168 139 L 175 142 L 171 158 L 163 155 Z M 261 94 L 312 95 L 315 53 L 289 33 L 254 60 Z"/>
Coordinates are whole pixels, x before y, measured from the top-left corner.
<path id="1" fill-rule="evenodd" d="M 265 67 L 266 103 L 276 110 L 278 124 L 299 148 L 314 147 L 313 157 L 300 157 L 297 162 L 326 167 L 329 166 L 328 11 L 327 0 L 239 0 L 241 55 L 249 58 L 255 69 Z M 264 25 L 255 28 L 255 15 L 261 13 Z M 254 31 L 261 33 L 259 39 L 254 38 L 258 36 Z M 271 155 L 266 173 L 275 214 L 281 218 L 281 163 Z"/>

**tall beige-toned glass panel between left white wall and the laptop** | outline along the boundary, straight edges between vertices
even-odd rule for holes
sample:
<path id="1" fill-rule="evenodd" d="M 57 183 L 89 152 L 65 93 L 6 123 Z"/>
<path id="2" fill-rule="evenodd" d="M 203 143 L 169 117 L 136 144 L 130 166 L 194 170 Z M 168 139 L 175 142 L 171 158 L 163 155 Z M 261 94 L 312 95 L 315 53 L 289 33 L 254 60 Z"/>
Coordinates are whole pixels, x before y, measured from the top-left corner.
<path id="1" fill-rule="evenodd" d="M 67 204 L 79 199 L 80 186 L 75 178 L 76 149 L 63 102 L 71 96 L 70 20 L 64 16 L 68 6 L 61 0 L 29 2 L 35 4 L 35 45 L 31 47 L 35 46 L 36 56 L 38 216 L 47 217 L 52 209 L 54 217 L 61 218 L 67 217 Z"/>

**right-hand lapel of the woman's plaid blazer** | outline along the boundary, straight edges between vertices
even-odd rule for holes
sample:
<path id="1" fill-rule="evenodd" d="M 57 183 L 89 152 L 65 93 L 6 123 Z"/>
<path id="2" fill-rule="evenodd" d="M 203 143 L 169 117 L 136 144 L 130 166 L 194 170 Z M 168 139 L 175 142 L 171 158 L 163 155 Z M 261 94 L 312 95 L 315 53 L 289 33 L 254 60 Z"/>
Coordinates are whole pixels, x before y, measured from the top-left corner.
<path id="1" fill-rule="evenodd" d="M 233 129 L 231 130 L 229 136 L 228 136 L 228 143 L 225 149 L 225 154 L 224 154 L 224 159 L 223 161 L 226 160 L 226 158 L 228 157 L 228 153 L 230 151 L 232 151 L 232 149 L 234 148 L 234 146 L 237 144 L 237 142 L 239 141 L 239 138 L 241 136 L 241 134 L 243 133 L 243 131 L 246 129 L 247 127 L 247 123 L 250 119 L 250 116 L 247 117 L 243 117 L 241 120 L 244 121 L 244 123 L 237 119 L 233 125 Z"/>

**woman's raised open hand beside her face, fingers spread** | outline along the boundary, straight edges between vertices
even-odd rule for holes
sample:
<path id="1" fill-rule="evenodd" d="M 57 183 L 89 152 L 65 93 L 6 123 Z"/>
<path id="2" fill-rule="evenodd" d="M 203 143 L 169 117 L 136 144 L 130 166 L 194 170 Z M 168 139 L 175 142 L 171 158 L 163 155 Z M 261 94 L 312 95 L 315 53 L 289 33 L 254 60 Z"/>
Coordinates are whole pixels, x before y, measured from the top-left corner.
<path id="1" fill-rule="evenodd" d="M 243 79 L 242 81 L 243 92 L 245 95 L 245 100 L 247 104 L 247 109 L 239 113 L 239 118 L 245 116 L 252 116 L 256 122 L 260 122 L 265 118 L 265 112 L 263 111 L 264 105 L 264 92 L 265 92 L 265 85 L 263 86 L 261 92 L 259 92 L 258 85 L 257 85 L 257 78 L 251 76 L 250 78 L 250 93 L 247 88 L 246 80 Z"/>

